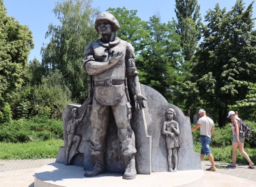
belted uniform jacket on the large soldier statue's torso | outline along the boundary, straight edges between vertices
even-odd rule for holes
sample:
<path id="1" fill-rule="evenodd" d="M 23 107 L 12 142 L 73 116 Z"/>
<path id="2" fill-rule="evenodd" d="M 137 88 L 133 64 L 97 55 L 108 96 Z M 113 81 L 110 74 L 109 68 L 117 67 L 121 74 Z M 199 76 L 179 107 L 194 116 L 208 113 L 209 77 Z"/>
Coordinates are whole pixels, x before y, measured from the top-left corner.
<path id="1" fill-rule="evenodd" d="M 113 56 L 113 53 L 117 52 L 125 54 L 117 64 L 106 71 L 91 75 L 94 97 L 103 105 L 118 103 L 125 94 L 124 80 L 126 77 L 138 74 L 134 63 L 134 50 L 130 43 L 118 37 L 109 43 L 104 43 L 102 39 L 98 39 L 85 48 L 84 63 L 91 61 L 91 58 L 94 58 L 96 62 L 106 62 Z"/>

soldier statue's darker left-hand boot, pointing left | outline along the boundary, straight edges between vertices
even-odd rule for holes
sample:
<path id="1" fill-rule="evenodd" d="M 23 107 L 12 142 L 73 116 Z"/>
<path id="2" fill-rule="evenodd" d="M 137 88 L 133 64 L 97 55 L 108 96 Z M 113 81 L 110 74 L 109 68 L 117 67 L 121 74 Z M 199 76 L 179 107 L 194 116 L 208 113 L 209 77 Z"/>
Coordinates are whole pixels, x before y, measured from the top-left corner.
<path id="1" fill-rule="evenodd" d="M 105 172 L 104 154 L 94 155 L 94 168 L 85 171 L 85 177 L 94 177 Z"/>

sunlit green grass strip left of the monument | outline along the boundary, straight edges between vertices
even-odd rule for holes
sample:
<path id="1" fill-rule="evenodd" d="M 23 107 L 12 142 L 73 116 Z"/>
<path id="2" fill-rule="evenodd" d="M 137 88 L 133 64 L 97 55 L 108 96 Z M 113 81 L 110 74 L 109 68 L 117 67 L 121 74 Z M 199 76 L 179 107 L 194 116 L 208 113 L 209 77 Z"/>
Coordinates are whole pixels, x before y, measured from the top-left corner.
<path id="1" fill-rule="evenodd" d="M 0 142 L 0 159 L 56 158 L 63 139 L 27 143 Z"/>

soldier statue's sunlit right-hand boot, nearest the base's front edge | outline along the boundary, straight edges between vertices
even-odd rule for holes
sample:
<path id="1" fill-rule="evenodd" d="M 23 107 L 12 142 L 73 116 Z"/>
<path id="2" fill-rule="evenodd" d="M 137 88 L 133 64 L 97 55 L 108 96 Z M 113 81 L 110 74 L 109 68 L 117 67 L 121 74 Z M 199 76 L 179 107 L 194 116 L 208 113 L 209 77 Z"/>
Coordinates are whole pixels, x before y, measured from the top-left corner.
<path id="1" fill-rule="evenodd" d="M 137 175 L 134 154 L 125 156 L 124 160 L 126 164 L 126 171 L 124 172 L 123 179 L 133 180 Z"/>

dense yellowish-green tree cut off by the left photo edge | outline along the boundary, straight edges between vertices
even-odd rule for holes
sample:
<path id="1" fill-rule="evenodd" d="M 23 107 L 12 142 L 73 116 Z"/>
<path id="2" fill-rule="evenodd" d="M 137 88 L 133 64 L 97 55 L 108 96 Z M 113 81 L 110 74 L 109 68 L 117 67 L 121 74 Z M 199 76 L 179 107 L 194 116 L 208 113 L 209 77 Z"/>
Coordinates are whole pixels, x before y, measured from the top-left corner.
<path id="1" fill-rule="evenodd" d="M 29 27 L 7 16 L 3 0 L 0 0 L 1 101 L 8 102 L 13 99 L 17 90 L 23 85 L 31 49 L 33 49 L 33 39 Z"/>

